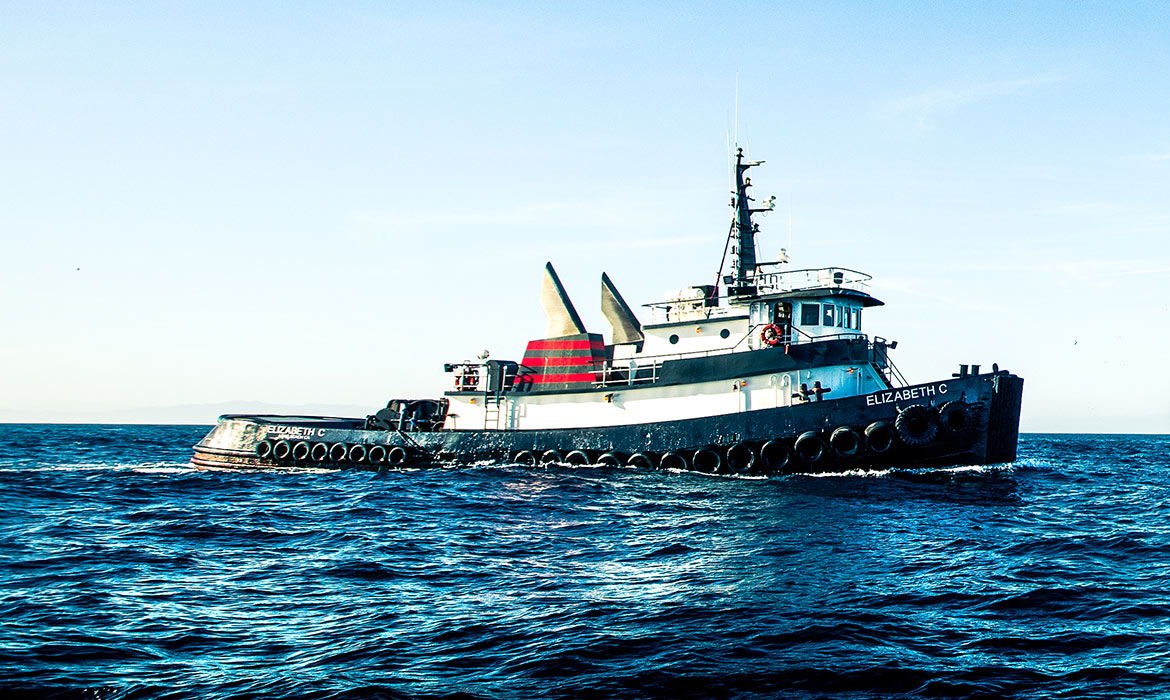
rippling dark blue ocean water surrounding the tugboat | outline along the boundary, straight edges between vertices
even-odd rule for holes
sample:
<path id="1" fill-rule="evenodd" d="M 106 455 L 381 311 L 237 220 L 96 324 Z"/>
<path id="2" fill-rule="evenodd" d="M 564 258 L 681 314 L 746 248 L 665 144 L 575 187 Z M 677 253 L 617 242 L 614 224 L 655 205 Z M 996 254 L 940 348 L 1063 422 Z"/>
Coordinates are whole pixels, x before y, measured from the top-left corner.
<path id="1" fill-rule="evenodd" d="M 1170 438 L 732 479 L 0 425 L 0 698 L 1170 696 Z"/>

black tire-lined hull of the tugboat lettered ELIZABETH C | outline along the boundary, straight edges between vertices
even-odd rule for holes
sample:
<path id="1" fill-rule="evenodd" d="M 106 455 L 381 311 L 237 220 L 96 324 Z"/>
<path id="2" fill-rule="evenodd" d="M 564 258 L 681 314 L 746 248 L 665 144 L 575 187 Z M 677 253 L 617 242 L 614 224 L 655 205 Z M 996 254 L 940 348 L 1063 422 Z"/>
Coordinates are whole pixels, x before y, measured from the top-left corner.
<path id="1" fill-rule="evenodd" d="M 404 433 L 365 430 L 362 419 L 223 416 L 195 446 L 192 462 L 201 467 L 384 468 L 483 460 L 592 464 L 605 455 L 603 464 L 626 465 L 639 455 L 635 466 L 764 473 L 999 464 L 1016 459 L 1023 386 L 1021 378 L 994 372 L 791 407 L 538 431 Z M 880 424 L 893 437 L 888 445 L 865 433 Z M 853 428 L 853 437 L 838 431 L 842 427 Z M 875 437 L 882 430 L 876 428 Z M 769 442 L 766 455 L 762 454 Z M 352 451 L 355 445 L 362 448 Z M 734 455 L 728 454 L 731 448 Z M 322 457 L 326 451 L 330 454 Z M 784 454 L 789 459 L 778 459 Z"/>

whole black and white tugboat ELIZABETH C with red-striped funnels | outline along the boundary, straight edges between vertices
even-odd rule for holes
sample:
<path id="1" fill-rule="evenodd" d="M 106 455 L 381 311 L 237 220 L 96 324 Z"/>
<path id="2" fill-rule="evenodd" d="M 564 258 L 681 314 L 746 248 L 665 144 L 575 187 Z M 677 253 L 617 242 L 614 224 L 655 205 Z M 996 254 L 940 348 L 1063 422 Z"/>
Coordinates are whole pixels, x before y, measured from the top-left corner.
<path id="1" fill-rule="evenodd" d="M 1024 380 L 992 365 L 908 384 L 896 342 L 862 331 L 883 306 L 869 275 L 757 261 L 749 169 L 735 156 L 731 226 L 714 284 L 645 304 L 601 274 L 610 342 L 589 332 L 552 265 L 544 338 L 523 358 L 448 363 L 441 398 L 395 398 L 365 418 L 221 416 L 200 467 L 569 464 L 775 474 L 1016 459 Z"/>

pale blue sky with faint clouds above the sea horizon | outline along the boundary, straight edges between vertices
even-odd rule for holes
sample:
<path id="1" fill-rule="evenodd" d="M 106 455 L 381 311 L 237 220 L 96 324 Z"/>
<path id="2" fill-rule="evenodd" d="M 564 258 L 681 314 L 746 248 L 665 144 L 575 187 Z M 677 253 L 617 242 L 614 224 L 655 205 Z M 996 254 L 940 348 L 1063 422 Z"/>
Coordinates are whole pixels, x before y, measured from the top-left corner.
<path id="1" fill-rule="evenodd" d="M 545 261 L 607 334 L 601 272 L 714 277 L 731 138 L 762 258 L 873 275 L 910 382 L 1170 433 L 1168 47 L 1163 2 L 0 0 L 0 420 L 434 397 L 543 335 Z"/>

